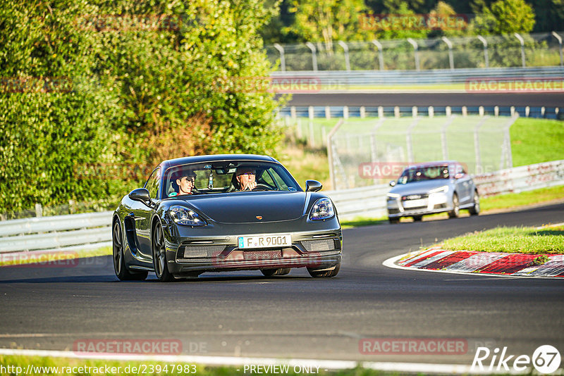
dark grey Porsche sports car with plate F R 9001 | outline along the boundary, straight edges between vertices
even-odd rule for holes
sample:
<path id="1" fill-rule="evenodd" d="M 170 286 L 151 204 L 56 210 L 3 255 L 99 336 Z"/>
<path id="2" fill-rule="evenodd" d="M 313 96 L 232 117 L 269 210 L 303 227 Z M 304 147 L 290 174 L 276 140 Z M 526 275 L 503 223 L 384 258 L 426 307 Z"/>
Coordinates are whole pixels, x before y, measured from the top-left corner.
<path id="1" fill-rule="evenodd" d="M 307 268 L 333 277 L 341 265 L 336 208 L 307 180 L 305 192 L 274 158 L 192 156 L 162 162 L 114 212 L 114 269 L 120 280 L 197 277 Z"/>

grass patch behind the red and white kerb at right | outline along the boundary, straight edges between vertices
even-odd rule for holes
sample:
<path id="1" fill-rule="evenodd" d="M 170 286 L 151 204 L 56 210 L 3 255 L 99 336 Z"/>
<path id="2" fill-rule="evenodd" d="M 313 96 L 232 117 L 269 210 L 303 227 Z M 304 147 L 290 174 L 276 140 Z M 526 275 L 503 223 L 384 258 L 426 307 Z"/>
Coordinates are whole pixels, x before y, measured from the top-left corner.
<path id="1" fill-rule="evenodd" d="M 564 226 L 497 227 L 446 239 L 441 247 L 450 251 L 564 254 Z"/>

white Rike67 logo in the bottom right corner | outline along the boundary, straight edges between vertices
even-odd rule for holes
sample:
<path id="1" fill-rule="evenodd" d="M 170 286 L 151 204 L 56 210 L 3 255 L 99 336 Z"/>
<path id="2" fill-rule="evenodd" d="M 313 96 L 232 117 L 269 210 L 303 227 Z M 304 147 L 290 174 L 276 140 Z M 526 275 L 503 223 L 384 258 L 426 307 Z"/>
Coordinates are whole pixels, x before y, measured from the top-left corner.
<path id="1" fill-rule="evenodd" d="M 491 360 L 489 359 L 491 356 Z M 531 365 L 540 373 L 552 373 L 560 367 L 560 352 L 551 345 L 539 346 L 533 356 L 510 355 L 507 346 L 500 349 L 496 347 L 490 351 L 487 347 L 478 347 L 474 361 L 472 361 L 472 371 L 511 371 L 523 372 Z"/>

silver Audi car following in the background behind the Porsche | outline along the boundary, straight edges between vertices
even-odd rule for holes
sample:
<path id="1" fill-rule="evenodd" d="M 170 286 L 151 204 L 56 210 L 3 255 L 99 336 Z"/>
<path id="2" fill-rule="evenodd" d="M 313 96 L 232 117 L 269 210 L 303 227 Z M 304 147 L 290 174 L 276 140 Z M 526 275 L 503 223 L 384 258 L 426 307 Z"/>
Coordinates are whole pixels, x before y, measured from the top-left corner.
<path id="1" fill-rule="evenodd" d="M 387 197 L 390 223 L 398 223 L 402 217 L 417 221 L 425 214 L 443 212 L 455 218 L 460 209 L 468 209 L 471 215 L 480 211 L 478 189 L 465 167 L 456 161 L 410 165 L 390 185 L 392 189 Z"/>

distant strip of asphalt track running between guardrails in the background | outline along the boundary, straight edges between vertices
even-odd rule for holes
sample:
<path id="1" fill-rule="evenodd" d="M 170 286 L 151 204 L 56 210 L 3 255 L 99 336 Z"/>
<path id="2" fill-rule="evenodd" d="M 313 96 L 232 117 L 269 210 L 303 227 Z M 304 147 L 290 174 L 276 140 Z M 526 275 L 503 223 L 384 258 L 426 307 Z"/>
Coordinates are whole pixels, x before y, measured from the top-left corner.
<path id="1" fill-rule="evenodd" d="M 560 93 L 336 93 L 292 94 L 287 106 L 531 106 L 562 107 Z"/>

